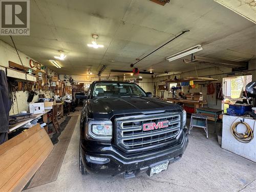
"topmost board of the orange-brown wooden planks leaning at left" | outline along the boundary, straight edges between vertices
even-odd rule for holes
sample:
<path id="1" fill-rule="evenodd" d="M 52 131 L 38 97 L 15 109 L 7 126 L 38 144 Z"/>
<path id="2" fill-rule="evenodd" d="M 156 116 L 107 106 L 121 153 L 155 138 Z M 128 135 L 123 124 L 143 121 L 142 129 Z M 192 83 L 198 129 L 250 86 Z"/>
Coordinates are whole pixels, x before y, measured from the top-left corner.
<path id="1" fill-rule="evenodd" d="M 29 138 L 33 134 L 35 134 L 37 131 L 41 129 L 39 124 L 36 124 L 35 126 L 31 127 L 27 131 L 17 135 L 15 139 L 10 139 L 0 145 L 0 155 L 5 153 L 6 151 L 10 150 L 12 147 L 18 145 L 19 143 L 23 142 L 26 138 Z M 1 166 L 1 165 L 0 165 Z"/>

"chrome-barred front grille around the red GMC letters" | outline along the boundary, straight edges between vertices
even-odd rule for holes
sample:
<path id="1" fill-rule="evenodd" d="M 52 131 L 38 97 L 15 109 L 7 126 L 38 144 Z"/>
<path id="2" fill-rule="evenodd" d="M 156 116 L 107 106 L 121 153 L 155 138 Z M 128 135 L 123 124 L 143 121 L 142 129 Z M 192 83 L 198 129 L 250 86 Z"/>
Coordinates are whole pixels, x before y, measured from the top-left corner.
<path id="1" fill-rule="evenodd" d="M 165 122 L 160 128 L 161 122 Z M 143 131 L 143 125 L 148 131 Z M 117 143 L 129 149 L 152 146 L 175 138 L 181 130 L 180 114 L 152 118 L 117 119 Z M 154 129 L 151 129 L 154 127 Z"/>

